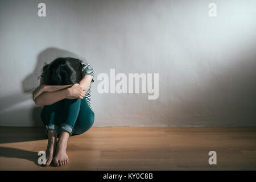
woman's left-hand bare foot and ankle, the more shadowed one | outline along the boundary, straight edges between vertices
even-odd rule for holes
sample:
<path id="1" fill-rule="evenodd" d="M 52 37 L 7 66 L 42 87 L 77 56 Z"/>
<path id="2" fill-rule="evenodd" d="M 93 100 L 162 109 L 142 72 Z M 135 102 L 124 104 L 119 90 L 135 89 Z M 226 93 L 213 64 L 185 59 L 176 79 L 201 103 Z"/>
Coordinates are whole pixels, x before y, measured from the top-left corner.
<path id="1" fill-rule="evenodd" d="M 55 154 L 55 148 L 57 143 L 57 136 L 55 130 L 48 131 L 48 144 L 46 150 L 46 166 L 49 166 L 52 162 L 53 155 Z"/>

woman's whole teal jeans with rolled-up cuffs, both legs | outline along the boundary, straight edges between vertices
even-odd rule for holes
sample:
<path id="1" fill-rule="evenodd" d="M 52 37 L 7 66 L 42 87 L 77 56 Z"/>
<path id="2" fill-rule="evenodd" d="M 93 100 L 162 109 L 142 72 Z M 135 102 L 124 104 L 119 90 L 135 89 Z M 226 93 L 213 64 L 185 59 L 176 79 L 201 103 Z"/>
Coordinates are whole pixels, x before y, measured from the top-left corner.
<path id="1" fill-rule="evenodd" d="M 94 123 L 94 112 L 84 99 L 63 99 L 43 107 L 40 117 L 48 129 L 68 131 L 69 135 L 79 135 L 89 130 Z"/>

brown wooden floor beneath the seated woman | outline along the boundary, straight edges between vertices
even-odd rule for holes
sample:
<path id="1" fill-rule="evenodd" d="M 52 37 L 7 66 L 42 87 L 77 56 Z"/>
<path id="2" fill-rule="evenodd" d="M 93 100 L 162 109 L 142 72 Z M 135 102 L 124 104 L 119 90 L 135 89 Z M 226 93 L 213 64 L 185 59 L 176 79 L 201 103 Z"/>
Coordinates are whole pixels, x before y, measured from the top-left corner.
<path id="1" fill-rule="evenodd" d="M 92 127 L 69 138 L 62 167 L 38 164 L 46 146 L 42 127 L 0 127 L 0 170 L 256 169 L 256 127 Z"/>

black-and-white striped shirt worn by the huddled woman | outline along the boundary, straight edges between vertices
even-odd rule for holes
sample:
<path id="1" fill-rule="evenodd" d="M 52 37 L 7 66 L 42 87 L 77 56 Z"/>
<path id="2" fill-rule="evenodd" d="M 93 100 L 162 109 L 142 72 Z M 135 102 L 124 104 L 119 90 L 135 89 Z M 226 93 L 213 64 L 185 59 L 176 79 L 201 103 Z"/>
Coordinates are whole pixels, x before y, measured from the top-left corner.
<path id="1" fill-rule="evenodd" d="M 82 64 L 82 77 L 84 77 L 85 75 L 91 75 L 94 77 L 94 69 L 92 68 L 92 65 L 88 63 L 82 63 L 82 62 L 81 64 Z M 46 75 L 46 70 L 43 69 L 41 77 L 44 77 L 45 75 Z M 92 79 L 92 82 L 94 82 L 93 79 Z M 92 82 L 90 82 L 89 89 L 85 93 L 85 99 L 88 105 L 90 106 L 90 109 L 92 109 L 92 105 L 90 104 L 90 98 L 91 98 L 90 90 L 91 90 Z"/>

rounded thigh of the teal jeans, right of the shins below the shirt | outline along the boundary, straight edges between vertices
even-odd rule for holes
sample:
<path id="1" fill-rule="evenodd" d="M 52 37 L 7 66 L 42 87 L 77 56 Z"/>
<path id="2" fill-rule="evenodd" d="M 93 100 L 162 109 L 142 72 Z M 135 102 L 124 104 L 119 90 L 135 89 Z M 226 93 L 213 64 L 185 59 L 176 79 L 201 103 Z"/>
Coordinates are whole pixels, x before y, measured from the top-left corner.
<path id="1" fill-rule="evenodd" d="M 89 130 L 94 123 L 94 112 L 90 109 L 85 97 L 81 100 L 81 106 L 77 121 L 74 127 L 73 135 L 79 135 Z"/>

